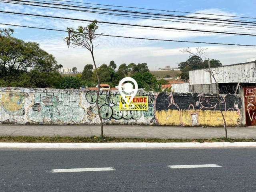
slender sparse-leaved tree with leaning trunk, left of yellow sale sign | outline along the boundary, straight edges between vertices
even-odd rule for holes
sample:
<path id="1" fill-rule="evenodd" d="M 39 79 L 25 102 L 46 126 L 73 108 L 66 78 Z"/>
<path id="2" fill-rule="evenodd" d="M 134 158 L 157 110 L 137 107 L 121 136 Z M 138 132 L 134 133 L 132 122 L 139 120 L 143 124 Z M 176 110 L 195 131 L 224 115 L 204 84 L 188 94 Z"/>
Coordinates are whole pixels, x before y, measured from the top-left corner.
<path id="1" fill-rule="evenodd" d="M 68 47 L 72 45 L 72 47 L 78 47 L 81 46 L 83 48 L 86 48 L 90 51 L 92 55 L 92 60 L 95 67 L 95 72 L 98 80 L 98 90 L 97 90 L 97 98 L 96 98 L 96 106 L 98 109 L 98 115 L 100 118 L 100 126 L 101 126 L 101 137 L 104 137 L 103 134 L 103 122 L 102 117 L 100 116 L 100 108 L 98 104 L 99 94 L 100 94 L 100 79 L 98 77 L 98 71 L 97 66 L 95 63 L 94 58 L 94 48 L 96 47 L 94 45 L 94 40 L 98 38 L 98 35 L 95 34 L 96 30 L 98 29 L 97 21 L 93 21 L 91 24 L 89 24 L 86 27 L 79 26 L 76 30 L 74 28 L 67 28 L 68 30 L 68 37 L 66 37 L 64 40 L 67 42 Z"/>

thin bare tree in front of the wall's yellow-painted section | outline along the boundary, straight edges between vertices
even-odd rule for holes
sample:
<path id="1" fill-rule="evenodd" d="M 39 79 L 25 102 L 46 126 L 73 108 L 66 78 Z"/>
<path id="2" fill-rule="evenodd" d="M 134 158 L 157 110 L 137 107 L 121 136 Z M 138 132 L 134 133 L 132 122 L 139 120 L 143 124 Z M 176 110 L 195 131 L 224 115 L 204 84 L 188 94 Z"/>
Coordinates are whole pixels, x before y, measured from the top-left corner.
<path id="1" fill-rule="evenodd" d="M 206 53 L 205 51 L 207 50 L 207 48 L 196 48 L 196 52 L 192 52 L 192 50 L 190 48 L 184 48 L 183 50 L 181 50 L 181 52 L 183 53 L 188 53 L 190 54 L 189 57 L 191 56 L 198 56 L 200 57 L 201 59 L 206 56 Z M 200 63 L 199 63 L 200 64 Z M 211 68 L 210 68 L 210 63 L 209 64 L 209 67 L 206 68 L 206 66 L 204 66 L 204 63 L 201 63 L 200 65 L 202 66 L 202 68 L 208 72 L 210 74 L 210 77 L 212 77 L 215 81 L 215 83 L 218 85 L 218 82 L 213 74 L 213 72 L 211 71 Z M 212 86 L 212 85 L 211 85 Z M 218 100 L 218 104 L 219 104 L 219 107 L 220 107 L 220 113 L 221 113 L 221 116 L 222 116 L 222 119 L 223 119 L 223 122 L 224 122 L 224 128 L 225 128 L 225 140 L 228 140 L 228 131 L 227 131 L 227 124 L 226 124 L 226 120 L 225 120 L 225 117 L 224 117 L 224 114 L 223 114 L 223 111 L 222 111 L 222 108 L 221 108 L 221 101 L 220 101 L 220 88 L 219 86 L 217 86 L 217 100 Z"/>

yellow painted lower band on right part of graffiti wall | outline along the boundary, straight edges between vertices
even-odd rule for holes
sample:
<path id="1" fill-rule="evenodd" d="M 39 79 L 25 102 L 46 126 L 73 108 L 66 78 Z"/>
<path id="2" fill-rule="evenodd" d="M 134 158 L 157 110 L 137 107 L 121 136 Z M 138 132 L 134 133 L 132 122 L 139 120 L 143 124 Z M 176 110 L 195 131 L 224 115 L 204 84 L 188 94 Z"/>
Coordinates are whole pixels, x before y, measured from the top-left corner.
<path id="1" fill-rule="evenodd" d="M 236 126 L 240 116 L 237 111 L 224 111 L 227 126 Z M 160 125 L 173 126 L 222 126 L 220 111 L 212 110 L 162 110 L 156 111 L 156 119 Z"/>

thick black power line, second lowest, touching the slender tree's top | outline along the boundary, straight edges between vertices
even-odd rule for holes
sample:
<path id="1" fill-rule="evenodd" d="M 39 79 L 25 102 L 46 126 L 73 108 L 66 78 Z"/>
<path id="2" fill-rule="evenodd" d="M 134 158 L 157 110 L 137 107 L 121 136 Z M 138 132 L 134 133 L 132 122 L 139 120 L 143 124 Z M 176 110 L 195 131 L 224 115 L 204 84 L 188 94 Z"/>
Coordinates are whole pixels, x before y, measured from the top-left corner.
<path id="1" fill-rule="evenodd" d="M 57 16 L 47 16 L 47 15 L 39 15 L 39 14 L 28 14 L 28 13 L 9 12 L 9 11 L 0 11 L 0 12 L 2 12 L 2 13 L 10 13 L 10 14 L 29 15 L 29 16 L 40 16 L 40 17 L 46 17 L 46 18 L 59 18 L 59 19 L 66 19 L 66 20 L 78 20 L 78 21 L 93 22 L 93 20 L 75 19 L 75 18 L 66 18 L 66 17 L 57 17 Z M 186 29 L 186 28 L 147 26 L 147 25 L 124 24 L 124 23 L 105 22 L 105 21 L 97 21 L 97 22 L 98 23 L 105 23 L 105 24 L 122 25 L 122 26 L 136 26 L 136 27 L 157 28 L 157 29 L 172 29 L 172 30 L 184 30 L 184 31 L 196 31 L 196 32 L 216 33 L 216 34 L 233 34 L 233 35 L 256 36 L 256 34 L 248 34 L 248 33 L 231 33 L 231 32 L 219 32 L 219 31 L 209 31 L 209 30 Z"/>

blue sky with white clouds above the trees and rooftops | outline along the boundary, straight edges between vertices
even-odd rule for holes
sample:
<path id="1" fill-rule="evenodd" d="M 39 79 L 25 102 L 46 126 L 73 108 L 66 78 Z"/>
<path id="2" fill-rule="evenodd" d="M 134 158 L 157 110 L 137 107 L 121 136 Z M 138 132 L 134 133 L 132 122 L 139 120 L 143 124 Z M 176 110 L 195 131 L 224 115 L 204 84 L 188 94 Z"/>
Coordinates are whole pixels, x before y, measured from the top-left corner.
<path id="1" fill-rule="evenodd" d="M 48 1 L 48 0 L 47 0 Z M 141 8 L 153 8 L 162 10 L 174 10 L 183 12 L 196 12 L 207 14 L 222 14 L 230 17 L 211 16 L 215 18 L 225 19 L 242 19 L 234 18 L 234 16 L 256 17 L 255 0 L 72 0 L 76 2 L 110 4 L 118 6 L 133 6 Z M 68 3 L 68 2 L 64 2 Z M 72 3 L 70 3 L 72 4 Z M 77 3 L 73 3 L 77 4 Z M 84 6 L 84 4 L 80 4 Z M 128 8 L 126 8 L 128 9 Z M 34 6 L 15 5 L 8 3 L 0 3 L 0 10 L 23 12 L 32 14 L 44 14 L 49 16 L 61 16 L 69 18 L 80 18 L 87 20 L 98 20 L 108 22 L 119 22 L 127 24 L 141 24 L 151 26 L 164 26 L 175 28 L 193 28 L 198 30 L 218 30 L 228 32 L 247 32 L 256 34 L 254 30 L 223 28 L 216 26 L 205 26 L 196 24 L 187 24 L 180 22 L 166 22 L 159 20 L 147 20 L 140 18 L 126 18 L 120 16 L 109 16 L 94 13 L 85 13 L 77 11 L 59 10 L 53 8 L 39 8 Z M 132 9 L 130 9 L 132 10 Z M 134 10 L 134 9 L 133 9 Z M 141 10 L 140 10 L 141 11 Z M 142 10 L 146 11 L 146 10 Z M 152 11 L 150 11 L 152 12 Z M 156 13 L 166 13 L 154 11 Z M 168 13 L 168 14 L 183 14 L 195 16 L 195 14 L 186 13 Z M 200 15 L 196 15 L 200 16 Z M 205 16 L 206 15 L 202 15 Z M 249 20 L 249 19 L 244 19 Z M 255 21 L 256 19 L 250 19 Z M 67 27 L 77 28 L 78 26 L 87 26 L 87 22 L 70 22 L 67 20 L 56 20 L 38 17 L 28 17 L 12 14 L 0 13 L 0 23 L 17 24 L 25 26 L 36 26 L 41 28 L 54 28 L 66 30 Z M 212 34 L 199 32 L 184 32 L 174 30 L 151 30 L 142 28 L 117 27 L 107 24 L 98 24 L 98 33 L 132 36 L 142 38 L 160 38 L 170 40 L 184 41 L 199 41 L 199 42 L 220 42 L 233 44 L 256 44 L 254 36 L 238 36 L 228 34 Z M 40 47 L 48 53 L 53 54 L 58 62 L 64 68 L 76 67 L 78 71 L 82 71 L 86 64 L 93 64 L 90 52 L 84 48 L 68 48 L 63 38 L 67 36 L 66 32 L 47 31 L 40 29 L 29 29 L 21 27 L 10 27 L 0 24 L 0 28 L 13 28 L 13 36 L 20 38 L 26 42 L 34 41 L 40 44 Z M 101 64 L 109 64 L 114 60 L 117 66 L 122 63 L 130 64 L 146 62 L 151 70 L 156 70 L 164 66 L 177 67 L 178 63 L 188 59 L 188 54 L 182 53 L 180 50 L 190 48 L 195 51 L 197 47 L 207 48 L 206 57 L 217 59 L 223 65 L 246 62 L 247 58 L 256 57 L 256 47 L 244 46 L 225 46 L 225 45 L 210 45 L 210 44 L 195 44 L 182 42 L 159 42 L 150 40 L 134 40 L 117 37 L 100 36 L 95 44 L 95 59 L 97 66 Z"/>

